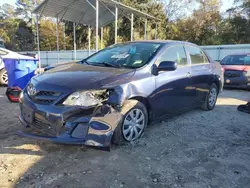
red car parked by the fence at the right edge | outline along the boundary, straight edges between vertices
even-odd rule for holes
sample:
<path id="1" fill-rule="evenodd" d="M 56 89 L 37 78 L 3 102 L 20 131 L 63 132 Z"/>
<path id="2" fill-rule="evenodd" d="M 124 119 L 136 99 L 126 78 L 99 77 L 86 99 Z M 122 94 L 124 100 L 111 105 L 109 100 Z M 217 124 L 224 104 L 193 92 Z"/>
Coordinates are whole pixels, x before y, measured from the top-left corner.
<path id="1" fill-rule="evenodd" d="M 250 53 L 232 54 L 221 60 L 225 87 L 250 89 Z"/>

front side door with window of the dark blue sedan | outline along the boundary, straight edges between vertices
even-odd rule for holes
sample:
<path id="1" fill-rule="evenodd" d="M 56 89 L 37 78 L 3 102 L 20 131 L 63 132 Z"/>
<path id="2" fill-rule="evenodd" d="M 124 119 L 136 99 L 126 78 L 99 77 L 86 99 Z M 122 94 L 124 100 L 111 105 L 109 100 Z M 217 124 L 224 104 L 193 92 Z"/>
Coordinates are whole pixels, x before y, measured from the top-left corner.
<path id="1" fill-rule="evenodd" d="M 194 91 L 191 82 L 191 67 L 183 45 L 168 47 L 155 62 L 175 61 L 175 71 L 162 71 L 155 76 L 154 102 L 156 117 L 176 113 L 192 104 Z"/>

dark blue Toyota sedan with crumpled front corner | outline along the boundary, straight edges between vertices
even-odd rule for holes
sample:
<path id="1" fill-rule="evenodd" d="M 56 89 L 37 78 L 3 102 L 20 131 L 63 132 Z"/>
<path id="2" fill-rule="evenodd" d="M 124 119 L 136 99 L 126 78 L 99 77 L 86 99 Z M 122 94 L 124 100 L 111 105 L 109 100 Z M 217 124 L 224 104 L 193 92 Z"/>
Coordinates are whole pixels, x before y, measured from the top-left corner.
<path id="1" fill-rule="evenodd" d="M 109 149 L 147 125 L 194 107 L 212 110 L 221 65 L 197 45 L 139 41 L 110 46 L 37 75 L 20 96 L 19 135 Z"/>

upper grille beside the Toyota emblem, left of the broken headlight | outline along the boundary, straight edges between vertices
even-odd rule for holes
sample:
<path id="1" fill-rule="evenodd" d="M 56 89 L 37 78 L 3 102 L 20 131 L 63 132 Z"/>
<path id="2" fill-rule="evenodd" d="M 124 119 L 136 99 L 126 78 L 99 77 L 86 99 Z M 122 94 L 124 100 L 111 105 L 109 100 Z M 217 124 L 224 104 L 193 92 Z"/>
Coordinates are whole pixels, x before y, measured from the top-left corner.
<path id="1" fill-rule="evenodd" d="M 30 97 L 34 103 L 42 105 L 53 104 L 62 93 L 53 91 L 39 91 L 34 97 Z"/>

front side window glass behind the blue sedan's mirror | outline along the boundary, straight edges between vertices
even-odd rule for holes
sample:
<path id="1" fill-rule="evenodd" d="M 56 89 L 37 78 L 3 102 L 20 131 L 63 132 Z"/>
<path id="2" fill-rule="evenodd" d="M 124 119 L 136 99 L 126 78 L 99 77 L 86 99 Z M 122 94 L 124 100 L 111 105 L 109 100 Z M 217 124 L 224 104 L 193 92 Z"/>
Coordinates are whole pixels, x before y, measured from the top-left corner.
<path id="1" fill-rule="evenodd" d="M 178 66 L 187 66 L 187 56 L 183 46 L 172 46 L 167 48 L 158 58 L 156 65 L 162 61 L 174 61 Z"/>

